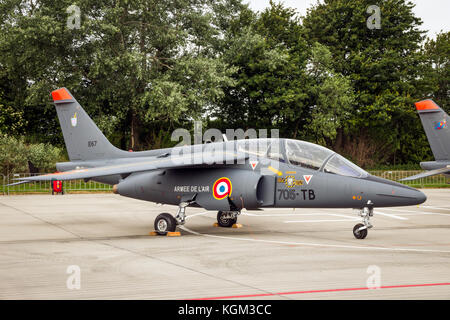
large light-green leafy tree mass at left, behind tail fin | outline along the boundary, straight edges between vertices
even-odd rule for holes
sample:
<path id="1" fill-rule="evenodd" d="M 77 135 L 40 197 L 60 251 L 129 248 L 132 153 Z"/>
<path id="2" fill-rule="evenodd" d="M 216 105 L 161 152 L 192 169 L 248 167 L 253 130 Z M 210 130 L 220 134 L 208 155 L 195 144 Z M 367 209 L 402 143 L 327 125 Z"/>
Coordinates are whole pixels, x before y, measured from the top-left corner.
<path id="1" fill-rule="evenodd" d="M 66 86 L 94 117 L 116 116 L 118 128 L 128 127 L 130 147 L 139 149 L 141 136 L 200 118 L 233 83 L 233 68 L 208 55 L 218 36 L 210 13 L 217 1 L 84 0 L 77 3 L 80 29 L 67 27 L 72 4 L 0 5 L 0 66 L 14 105 L 27 107 L 29 131 L 55 135 L 49 92 Z M 52 121 L 44 126 L 36 115 Z"/>

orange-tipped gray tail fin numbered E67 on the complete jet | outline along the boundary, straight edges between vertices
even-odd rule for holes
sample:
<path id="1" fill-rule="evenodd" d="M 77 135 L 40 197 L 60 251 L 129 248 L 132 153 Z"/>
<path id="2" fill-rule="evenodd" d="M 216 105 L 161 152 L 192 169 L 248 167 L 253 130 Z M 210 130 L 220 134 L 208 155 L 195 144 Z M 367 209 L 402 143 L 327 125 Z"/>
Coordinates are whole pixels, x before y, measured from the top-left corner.
<path id="1" fill-rule="evenodd" d="M 70 161 L 126 157 L 103 135 L 66 88 L 52 92 Z"/>

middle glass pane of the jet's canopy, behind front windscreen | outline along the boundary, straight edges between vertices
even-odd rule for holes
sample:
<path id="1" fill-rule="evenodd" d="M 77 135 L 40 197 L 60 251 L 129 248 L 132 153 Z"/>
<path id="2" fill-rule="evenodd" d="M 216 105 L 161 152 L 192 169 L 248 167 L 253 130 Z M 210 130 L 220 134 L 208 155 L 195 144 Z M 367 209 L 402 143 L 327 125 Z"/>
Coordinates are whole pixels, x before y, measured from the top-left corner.
<path id="1" fill-rule="evenodd" d="M 333 151 L 313 143 L 286 140 L 286 156 L 295 166 L 318 170 Z"/>

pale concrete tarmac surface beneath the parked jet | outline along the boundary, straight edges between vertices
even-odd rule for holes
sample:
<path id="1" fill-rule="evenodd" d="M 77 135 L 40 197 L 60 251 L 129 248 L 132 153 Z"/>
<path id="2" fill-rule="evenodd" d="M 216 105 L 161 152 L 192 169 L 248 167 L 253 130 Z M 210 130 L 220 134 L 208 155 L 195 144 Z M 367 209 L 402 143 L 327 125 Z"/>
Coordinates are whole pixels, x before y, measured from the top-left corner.
<path id="1" fill-rule="evenodd" d="M 246 211 L 232 229 L 187 208 L 164 237 L 149 232 L 174 206 L 0 196 L 0 299 L 450 299 L 450 189 L 423 191 L 420 206 L 375 209 L 364 240 L 351 209 Z"/>

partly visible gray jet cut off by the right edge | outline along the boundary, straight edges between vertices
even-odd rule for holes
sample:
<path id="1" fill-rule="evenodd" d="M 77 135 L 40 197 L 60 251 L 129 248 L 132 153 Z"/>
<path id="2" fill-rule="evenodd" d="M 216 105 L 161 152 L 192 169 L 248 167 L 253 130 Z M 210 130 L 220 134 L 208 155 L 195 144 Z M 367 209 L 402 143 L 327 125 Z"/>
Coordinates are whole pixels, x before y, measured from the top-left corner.
<path id="1" fill-rule="evenodd" d="M 421 162 L 426 172 L 404 178 L 402 181 L 416 180 L 437 174 L 450 176 L 450 130 L 448 114 L 433 100 L 427 99 L 415 103 L 422 126 L 433 151 L 435 161 Z"/>

